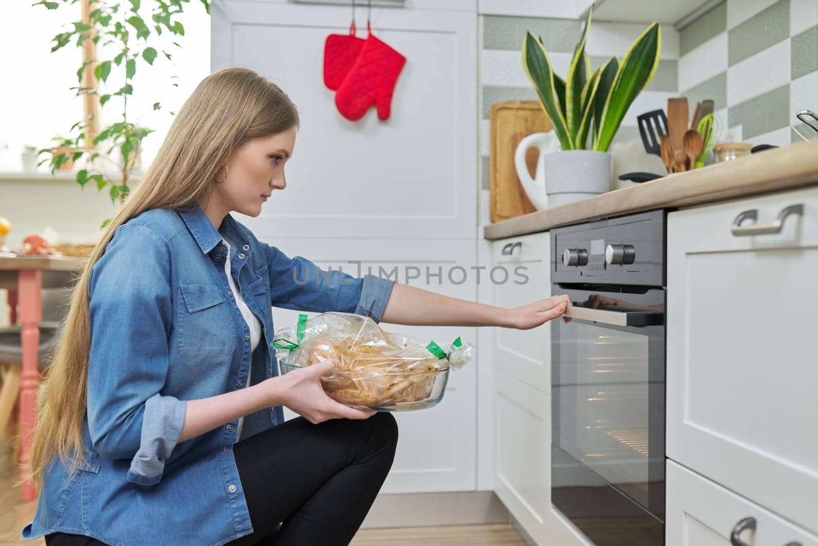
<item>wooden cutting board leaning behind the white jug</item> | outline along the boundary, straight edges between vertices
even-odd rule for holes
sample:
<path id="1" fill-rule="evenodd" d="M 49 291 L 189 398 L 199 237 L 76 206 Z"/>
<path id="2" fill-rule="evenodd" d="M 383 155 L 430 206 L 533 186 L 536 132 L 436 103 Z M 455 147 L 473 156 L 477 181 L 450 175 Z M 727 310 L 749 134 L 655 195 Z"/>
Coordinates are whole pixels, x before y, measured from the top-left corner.
<path id="1" fill-rule="evenodd" d="M 488 157 L 489 219 L 500 222 L 535 212 L 519 183 L 514 154 L 517 144 L 531 133 L 551 130 L 551 120 L 537 101 L 506 101 L 492 104 L 489 114 L 491 146 Z M 525 160 L 534 175 L 539 152 L 530 148 Z"/>

